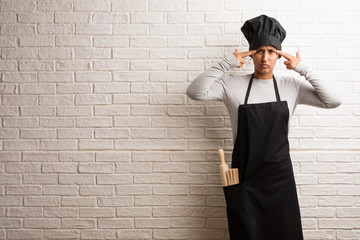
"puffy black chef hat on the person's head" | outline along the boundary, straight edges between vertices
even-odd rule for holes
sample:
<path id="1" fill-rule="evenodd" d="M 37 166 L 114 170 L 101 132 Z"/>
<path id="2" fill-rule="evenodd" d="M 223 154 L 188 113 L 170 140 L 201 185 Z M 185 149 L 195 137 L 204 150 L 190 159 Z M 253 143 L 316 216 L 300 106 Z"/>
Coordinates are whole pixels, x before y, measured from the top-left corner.
<path id="1" fill-rule="evenodd" d="M 281 43 L 286 37 L 285 29 L 275 19 L 266 15 L 247 20 L 241 27 L 246 40 L 249 42 L 249 50 L 261 46 L 273 46 L 281 50 Z"/>

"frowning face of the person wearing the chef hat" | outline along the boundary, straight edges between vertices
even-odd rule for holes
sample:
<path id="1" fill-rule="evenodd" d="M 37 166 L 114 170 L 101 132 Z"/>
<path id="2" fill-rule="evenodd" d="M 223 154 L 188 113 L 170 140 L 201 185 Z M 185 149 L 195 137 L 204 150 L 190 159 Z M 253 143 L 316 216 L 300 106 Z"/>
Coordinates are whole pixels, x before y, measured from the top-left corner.
<path id="1" fill-rule="evenodd" d="M 272 74 L 279 55 L 273 46 L 261 46 L 256 49 L 256 53 L 252 55 L 252 58 L 255 65 L 255 72 L 259 75 L 266 75 Z"/>

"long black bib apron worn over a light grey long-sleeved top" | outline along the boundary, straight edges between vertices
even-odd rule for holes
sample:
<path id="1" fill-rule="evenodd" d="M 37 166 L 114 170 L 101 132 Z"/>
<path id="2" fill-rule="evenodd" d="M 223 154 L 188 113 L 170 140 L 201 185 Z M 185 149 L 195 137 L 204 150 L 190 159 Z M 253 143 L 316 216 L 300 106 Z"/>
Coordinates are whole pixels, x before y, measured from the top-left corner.
<path id="1" fill-rule="evenodd" d="M 299 202 L 289 153 L 287 101 L 239 106 L 231 168 L 239 184 L 224 187 L 231 240 L 303 240 Z"/>

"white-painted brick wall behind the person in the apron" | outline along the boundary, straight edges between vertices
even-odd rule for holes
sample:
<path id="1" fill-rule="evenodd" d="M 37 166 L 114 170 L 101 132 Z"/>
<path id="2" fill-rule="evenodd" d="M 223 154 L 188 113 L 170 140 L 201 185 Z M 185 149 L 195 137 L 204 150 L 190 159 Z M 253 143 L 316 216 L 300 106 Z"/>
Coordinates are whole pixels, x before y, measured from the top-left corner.
<path id="1" fill-rule="evenodd" d="M 185 90 L 246 50 L 240 27 L 261 13 L 286 28 L 284 51 L 299 47 L 343 96 L 291 119 L 305 239 L 360 239 L 358 1 L 1 0 L 0 10 L 0 239 L 227 239 L 216 150 L 230 161 L 229 118 Z"/>

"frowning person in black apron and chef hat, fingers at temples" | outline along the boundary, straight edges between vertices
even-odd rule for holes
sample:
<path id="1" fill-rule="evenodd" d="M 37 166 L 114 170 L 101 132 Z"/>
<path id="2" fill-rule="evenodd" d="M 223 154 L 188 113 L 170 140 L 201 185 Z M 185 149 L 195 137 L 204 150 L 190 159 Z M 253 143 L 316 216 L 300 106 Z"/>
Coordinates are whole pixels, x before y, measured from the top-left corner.
<path id="1" fill-rule="evenodd" d="M 228 109 L 233 133 L 232 168 L 239 184 L 224 187 L 231 240 L 303 240 L 296 184 L 289 153 L 289 117 L 298 104 L 335 108 L 336 92 L 296 56 L 281 51 L 286 31 L 261 15 L 241 28 L 249 51 L 233 55 L 198 76 L 187 94 L 195 100 L 220 100 Z M 251 56 L 254 73 L 223 73 Z M 280 57 L 287 69 L 305 76 L 274 76 Z"/>

